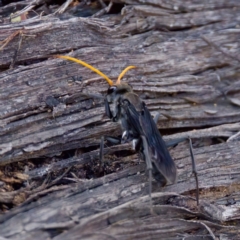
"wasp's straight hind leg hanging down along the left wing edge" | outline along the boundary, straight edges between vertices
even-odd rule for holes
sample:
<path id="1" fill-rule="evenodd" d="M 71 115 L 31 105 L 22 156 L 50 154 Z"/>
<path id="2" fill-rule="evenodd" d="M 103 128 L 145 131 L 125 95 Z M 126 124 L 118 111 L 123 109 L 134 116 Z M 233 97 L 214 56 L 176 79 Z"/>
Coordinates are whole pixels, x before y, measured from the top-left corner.
<path id="1" fill-rule="evenodd" d="M 150 159 L 149 151 L 148 151 L 148 143 L 145 136 L 141 136 L 142 143 L 143 143 L 143 155 L 144 160 L 147 165 L 147 171 L 149 174 L 149 197 L 150 197 L 150 211 L 153 213 L 153 207 L 152 207 L 152 161 Z"/>

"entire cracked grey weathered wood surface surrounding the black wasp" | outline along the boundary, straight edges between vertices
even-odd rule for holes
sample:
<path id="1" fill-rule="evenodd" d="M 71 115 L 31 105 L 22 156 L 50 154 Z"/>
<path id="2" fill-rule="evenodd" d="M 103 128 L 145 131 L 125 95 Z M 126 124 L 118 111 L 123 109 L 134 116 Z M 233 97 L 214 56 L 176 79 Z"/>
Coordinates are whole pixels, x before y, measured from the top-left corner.
<path id="1" fill-rule="evenodd" d="M 239 1 L 115 3 L 126 3 L 122 14 L 48 15 L 0 28 L 1 171 L 18 164 L 25 169 L 18 179 L 27 176 L 21 188 L 0 191 L 0 203 L 8 206 L 0 236 L 239 239 Z M 187 143 L 170 149 L 177 183 L 160 188 L 153 182 L 153 214 L 145 163 L 130 144 L 104 149 L 105 161 L 115 166 L 110 174 L 91 180 L 67 174 L 62 185 L 48 184 L 50 174 L 57 178 L 68 167 L 99 166 L 101 136 L 121 134 L 104 113 L 107 83 L 54 54 L 82 59 L 113 80 L 126 66 L 137 66 L 123 81 L 153 116 L 161 113 L 164 139 L 193 139 L 199 206 Z M 29 169 L 33 160 L 38 164 Z M 0 184 L 7 184 L 1 171 Z M 39 179 L 48 182 L 36 185 Z"/>

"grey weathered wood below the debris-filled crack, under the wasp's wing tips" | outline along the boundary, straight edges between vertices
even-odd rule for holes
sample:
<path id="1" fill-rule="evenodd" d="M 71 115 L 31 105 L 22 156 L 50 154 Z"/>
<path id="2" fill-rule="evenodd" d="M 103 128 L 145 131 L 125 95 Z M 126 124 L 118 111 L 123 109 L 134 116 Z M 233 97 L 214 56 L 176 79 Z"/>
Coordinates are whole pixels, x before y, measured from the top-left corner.
<path id="1" fill-rule="evenodd" d="M 139 221 L 141 225 L 147 224 L 145 221 L 149 218 L 149 224 L 158 223 L 156 227 L 163 230 L 172 224 L 173 229 L 177 228 L 176 233 L 173 231 L 173 236 L 177 233 L 183 234 L 192 228 L 198 229 L 200 231 L 198 234 L 208 236 L 209 233 L 200 224 L 202 222 L 210 229 L 214 229 L 214 233 L 218 236 L 226 234 L 230 238 L 234 236 L 232 239 L 237 239 L 239 226 L 229 224 L 239 218 L 238 205 L 229 205 L 229 203 L 239 199 L 239 142 L 202 147 L 195 149 L 194 153 L 201 189 L 199 208 L 194 199 L 178 196 L 178 194 L 192 193 L 194 197 L 195 191 L 194 179 L 190 178 L 190 154 L 184 147 L 171 151 L 178 166 L 178 182 L 161 189 L 163 193 L 153 195 L 156 216 L 149 215 L 149 198 L 139 199 L 148 191 L 147 177 L 145 174 L 138 174 L 145 169 L 145 164 L 140 164 L 102 178 L 71 184 L 65 190 L 62 189 L 30 205 L 12 210 L 0 217 L 2 222 L 0 235 L 10 239 L 20 236 L 37 238 L 42 232 L 44 236 L 47 234 L 50 237 L 51 229 L 58 229 L 60 232 L 67 231 L 56 239 L 75 239 L 75 237 L 82 239 L 86 234 L 90 234 L 89 238 L 92 238 L 94 232 L 99 231 L 102 234 L 126 239 L 130 238 L 128 237 L 130 225 L 127 223 L 133 221 L 133 224 Z M 156 182 L 154 189 L 157 192 L 160 190 Z M 234 192 L 236 194 L 232 196 Z M 218 206 L 217 203 L 221 205 Z M 198 221 L 195 220 L 196 217 Z M 227 224 L 229 227 L 221 225 L 223 221 L 229 222 Z M 13 223 L 17 223 L 14 228 Z M 181 223 L 180 228 L 179 223 Z M 190 223 L 192 227 L 188 225 Z M 119 232 L 115 229 L 118 224 L 120 224 L 117 228 Z M 138 231 L 143 234 L 144 228 L 135 229 L 137 224 L 132 227 L 132 233 L 137 234 L 136 236 L 140 234 Z M 151 234 L 158 235 L 160 232 L 153 228 Z M 167 232 L 161 234 L 163 235 L 160 236 L 164 237 Z M 189 234 L 191 236 L 194 233 Z M 145 235 L 141 238 L 146 239 Z"/>

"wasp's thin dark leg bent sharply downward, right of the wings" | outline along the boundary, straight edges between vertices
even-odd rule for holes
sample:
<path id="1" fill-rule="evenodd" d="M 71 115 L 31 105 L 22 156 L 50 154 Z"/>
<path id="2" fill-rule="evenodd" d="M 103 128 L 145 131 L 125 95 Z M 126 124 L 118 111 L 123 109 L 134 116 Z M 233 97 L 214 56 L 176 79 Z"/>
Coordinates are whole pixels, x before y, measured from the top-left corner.
<path id="1" fill-rule="evenodd" d="M 196 201 L 197 201 L 197 205 L 199 205 L 198 174 L 197 174 L 197 168 L 196 168 L 195 158 L 194 158 L 194 154 L 193 154 L 193 147 L 192 147 L 192 140 L 191 140 L 191 138 L 190 137 L 186 137 L 186 138 L 175 139 L 175 140 L 173 140 L 171 142 L 167 142 L 166 146 L 167 147 L 174 147 L 178 143 L 186 141 L 186 140 L 188 140 L 188 142 L 189 142 L 190 155 L 191 155 L 191 161 L 192 161 L 192 174 L 194 175 L 194 178 L 195 178 L 195 181 L 196 181 Z"/>

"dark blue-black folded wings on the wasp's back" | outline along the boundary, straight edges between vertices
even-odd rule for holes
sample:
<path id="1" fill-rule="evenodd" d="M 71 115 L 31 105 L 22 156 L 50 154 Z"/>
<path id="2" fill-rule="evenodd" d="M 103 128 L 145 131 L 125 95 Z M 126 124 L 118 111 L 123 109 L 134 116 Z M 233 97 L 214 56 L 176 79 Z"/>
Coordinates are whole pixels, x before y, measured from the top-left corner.
<path id="1" fill-rule="evenodd" d="M 128 107 L 125 106 L 124 109 L 132 129 L 146 137 L 154 166 L 169 183 L 174 183 L 177 176 L 175 163 L 145 103 L 142 102 L 140 112 L 129 101 Z"/>

